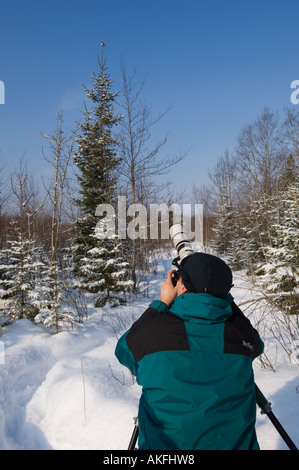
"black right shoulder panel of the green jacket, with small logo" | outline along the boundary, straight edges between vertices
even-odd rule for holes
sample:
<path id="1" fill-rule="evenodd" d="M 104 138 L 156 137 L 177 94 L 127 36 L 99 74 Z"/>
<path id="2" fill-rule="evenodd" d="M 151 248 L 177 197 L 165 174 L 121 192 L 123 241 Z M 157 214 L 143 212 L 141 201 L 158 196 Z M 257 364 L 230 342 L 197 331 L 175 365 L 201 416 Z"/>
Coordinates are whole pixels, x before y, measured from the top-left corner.
<path id="1" fill-rule="evenodd" d="M 224 324 L 224 353 L 255 359 L 262 352 L 259 334 L 235 303 L 232 309 L 232 317 Z"/>

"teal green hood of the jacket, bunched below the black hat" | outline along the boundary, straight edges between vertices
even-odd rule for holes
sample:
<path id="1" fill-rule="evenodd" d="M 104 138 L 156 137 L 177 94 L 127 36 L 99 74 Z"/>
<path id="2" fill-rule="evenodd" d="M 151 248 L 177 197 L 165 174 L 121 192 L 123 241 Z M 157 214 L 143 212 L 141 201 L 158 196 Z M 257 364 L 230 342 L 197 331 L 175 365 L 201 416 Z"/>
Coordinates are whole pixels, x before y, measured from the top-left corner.
<path id="1" fill-rule="evenodd" d="M 169 310 L 187 322 L 221 323 L 232 315 L 232 301 L 230 294 L 221 299 L 210 294 L 186 293 L 176 297 Z"/>

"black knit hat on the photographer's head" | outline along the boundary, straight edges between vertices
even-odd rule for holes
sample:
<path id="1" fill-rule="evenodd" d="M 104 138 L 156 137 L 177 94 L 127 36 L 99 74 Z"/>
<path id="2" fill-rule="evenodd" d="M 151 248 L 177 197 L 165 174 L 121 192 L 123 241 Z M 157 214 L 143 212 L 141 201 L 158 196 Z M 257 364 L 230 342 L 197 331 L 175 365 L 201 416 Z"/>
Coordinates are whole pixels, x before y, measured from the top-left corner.
<path id="1" fill-rule="evenodd" d="M 180 272 L 188 292 L 208 293 L 224 299 L 232 287 L 232 272 L 217 256 L 193 253 L 183 259 Z"/>

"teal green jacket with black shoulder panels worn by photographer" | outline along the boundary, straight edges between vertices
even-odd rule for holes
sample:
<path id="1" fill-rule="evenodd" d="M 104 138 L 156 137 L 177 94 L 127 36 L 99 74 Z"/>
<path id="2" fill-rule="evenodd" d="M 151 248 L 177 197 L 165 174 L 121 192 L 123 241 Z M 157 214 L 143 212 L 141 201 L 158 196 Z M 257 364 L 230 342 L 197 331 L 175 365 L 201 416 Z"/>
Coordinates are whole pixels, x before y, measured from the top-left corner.
<path id="1" fill-rule="evenodd" d="M 143 387 L 138 448 L 259 449 L 252 361 L 262 351 L 230 294 L 154 301 L 115 350 Z"/>

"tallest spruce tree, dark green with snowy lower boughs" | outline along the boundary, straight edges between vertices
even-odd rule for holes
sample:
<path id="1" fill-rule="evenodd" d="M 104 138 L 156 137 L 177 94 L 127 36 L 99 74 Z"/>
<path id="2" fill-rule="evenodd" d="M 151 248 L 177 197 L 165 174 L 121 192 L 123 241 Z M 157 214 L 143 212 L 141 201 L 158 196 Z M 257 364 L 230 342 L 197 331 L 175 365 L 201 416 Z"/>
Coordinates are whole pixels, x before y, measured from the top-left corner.
<path id="1" fill-rule="evenodd" d="M 100 238 L 97 236 L 96 226 L 100 222 L 96 217 L 97 207 L 116 201 L 115 170 L 120 158 L 117 157 L 118 140 L 113 131 L 121 119 L 114 114 L 113 103 L 117 93 L 112 92 L 112 81 L 107 74 L 103 53 L 98 65 L 99 73 L 92 77 L 93 88 L 86 88 L 92 108 L 85 109 L 85 121 L 81 125 L 78 150 L 74 157 L 80 172 L 77 176 L 80 188 L 76 203 L 82 216 L 75 224 L 73 252 L 75 272 L 79 276 L 77 287 L 96 294 L 95 303 L 102 306 L 111 299 L 112 291 L 119 291 L 119 285 L 115 283 L 117 269 L 119 278 L 124 276 L 124 272 L 119 262 L 119 241 L 110 234 Z M 103 292 L 106 294 L 102 295 Z"/>

